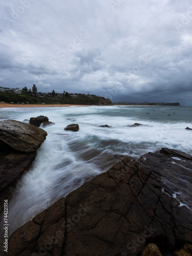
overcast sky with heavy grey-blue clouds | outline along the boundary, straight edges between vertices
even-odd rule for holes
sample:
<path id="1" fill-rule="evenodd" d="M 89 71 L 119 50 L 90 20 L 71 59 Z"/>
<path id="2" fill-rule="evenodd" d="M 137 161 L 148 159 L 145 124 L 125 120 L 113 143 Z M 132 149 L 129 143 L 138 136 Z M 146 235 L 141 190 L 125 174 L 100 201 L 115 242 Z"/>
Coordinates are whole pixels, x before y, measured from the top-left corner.
<path id="1" fill-rule="evenodd" d="M 192 105 L 189 0 L 0 0 L 0 86 Z"/>

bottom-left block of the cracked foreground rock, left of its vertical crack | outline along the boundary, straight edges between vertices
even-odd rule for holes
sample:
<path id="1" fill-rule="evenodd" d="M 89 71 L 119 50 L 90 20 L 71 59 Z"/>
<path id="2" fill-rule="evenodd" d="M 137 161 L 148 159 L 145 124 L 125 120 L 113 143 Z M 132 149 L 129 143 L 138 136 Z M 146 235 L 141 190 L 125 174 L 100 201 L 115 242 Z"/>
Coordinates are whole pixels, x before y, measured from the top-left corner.
<path id="1" fill-rule="evenodd" d="M 65 211 L 65 199 L 60 199 L 41 212 L 10 236 L 8 253 L 4 252 L 3 255 L 31 255 L 31 251 L 36 252 L 34 255 L 62 255 Z"/>

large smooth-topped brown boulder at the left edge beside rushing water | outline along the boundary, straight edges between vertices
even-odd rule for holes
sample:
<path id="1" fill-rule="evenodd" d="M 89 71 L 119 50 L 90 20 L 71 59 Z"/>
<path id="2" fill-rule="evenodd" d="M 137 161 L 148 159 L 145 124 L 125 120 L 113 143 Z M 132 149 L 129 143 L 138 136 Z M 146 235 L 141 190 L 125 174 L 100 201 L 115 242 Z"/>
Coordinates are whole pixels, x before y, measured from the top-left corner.
<path id="1" fill-rule="evenodd" d="M 30 153 L 37 150 L 46 139 L 47 132 L 30 124 L 15 121 L 0 121 L 0 141 L 15 150 Z"/>

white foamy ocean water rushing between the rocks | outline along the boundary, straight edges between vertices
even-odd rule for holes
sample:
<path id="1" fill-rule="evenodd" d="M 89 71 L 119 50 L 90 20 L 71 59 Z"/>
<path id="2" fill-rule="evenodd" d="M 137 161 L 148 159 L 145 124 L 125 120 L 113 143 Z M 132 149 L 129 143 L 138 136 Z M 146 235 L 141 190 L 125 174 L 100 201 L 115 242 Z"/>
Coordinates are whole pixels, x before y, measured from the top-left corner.
<path id="1" fill-rule="evenodd" d="M 44 115 L 55 125 L 30 170 L 9 200 L 9 232 L 126 156 L 139 158 L 162 147 L 192 155 L 192 107 L 70 106 L 0 109 L 0 120 Z M 28 122 L 25 120 L 25 122 Z M 65 131 L 78 123 L 78 132 Z M 134 123 L 142 126 L 131 126 Z M 100 127 L 108 124 L 110 127 Z"/>

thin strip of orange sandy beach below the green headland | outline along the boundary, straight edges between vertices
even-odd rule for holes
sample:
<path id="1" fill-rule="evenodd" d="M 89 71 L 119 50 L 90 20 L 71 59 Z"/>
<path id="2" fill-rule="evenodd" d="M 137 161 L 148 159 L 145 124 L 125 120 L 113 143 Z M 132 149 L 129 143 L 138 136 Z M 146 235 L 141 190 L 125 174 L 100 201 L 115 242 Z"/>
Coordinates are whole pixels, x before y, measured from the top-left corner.
<path id="1" fill-rule="evenodd" d="M 34 108 L 41 106 L 89 106 L 89 105 L 70 105 L 70 104 L 9 104 L 9 103 L 0 103 L 1 108 Z"/>

